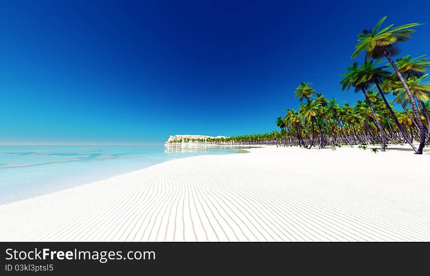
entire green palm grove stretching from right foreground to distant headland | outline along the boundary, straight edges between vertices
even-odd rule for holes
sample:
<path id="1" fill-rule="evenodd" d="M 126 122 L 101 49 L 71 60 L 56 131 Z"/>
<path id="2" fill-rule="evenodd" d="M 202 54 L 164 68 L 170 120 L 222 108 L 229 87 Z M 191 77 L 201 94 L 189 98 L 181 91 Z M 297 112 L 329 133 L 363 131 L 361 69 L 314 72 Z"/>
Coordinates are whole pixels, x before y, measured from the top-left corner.
<path id="1" fill-rule="evenodd" d="M 400 52 L 399 42 L 411 38 L 410 23 L 381 28 L 386 17 L 373 29 L 358 34 L 358 44 L 351 58 L 366 53 L 363 64 L 354 62 L 341 75 L 342 91 L 362 93 L 355 104 L 340 105 L 336 99 L 326 99 L 316 92 L 312 83 L 302 82 L 294 91 L 301 102 L 297 111 L 287 109 L 285 116 L 276 118 L 280 131 L 266 134 L 242 135 L 228 138 L 192 139 L 184 142 L 223 145 L 282 145 L 311 149 L 341 145 L 381 145 L 408 143 L 415 154 L 422 154 L 430 139 L 430 82 L 425 72 L 430 67 L 426 56 L 404 56 L 395 62 Z M 388 64 L 383 64 L 386 59 Z M 394 97 L 388 102 L 386 95 Z M 397 111 L 393 105 L 401 106 Z M 180 141 L 180 142 L 179 142 Z M 179 140 L 178 143 L 182 141 Z M 418 148 L 413 142 L 419 143 Z M 172 143 L 177 143 L 173 141 Z M 377 148 L 372 148 L 377 152 Z"/>

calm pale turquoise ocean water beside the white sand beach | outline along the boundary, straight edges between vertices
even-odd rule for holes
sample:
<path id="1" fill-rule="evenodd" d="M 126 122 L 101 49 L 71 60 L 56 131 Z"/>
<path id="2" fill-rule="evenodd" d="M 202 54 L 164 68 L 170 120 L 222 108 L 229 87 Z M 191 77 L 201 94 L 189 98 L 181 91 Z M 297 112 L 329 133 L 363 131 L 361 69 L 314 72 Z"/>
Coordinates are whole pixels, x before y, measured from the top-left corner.
<path id="1" fill-rule="evenodd" d="M 201 154 L 241 148 L 164 145 L 0 146 L 0 204 Z"/>

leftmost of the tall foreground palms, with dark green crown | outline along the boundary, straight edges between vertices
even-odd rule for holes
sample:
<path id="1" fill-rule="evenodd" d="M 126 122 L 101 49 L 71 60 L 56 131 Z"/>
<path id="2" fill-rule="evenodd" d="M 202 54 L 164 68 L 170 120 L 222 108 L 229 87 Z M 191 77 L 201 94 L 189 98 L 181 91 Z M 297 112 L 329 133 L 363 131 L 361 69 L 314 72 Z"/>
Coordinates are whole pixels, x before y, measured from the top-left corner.
<path id="1" fill-rule="evenodd" d="M 367 96 L 366 89 L 368 89 L 371 85 L 371 82 L 369 82 L 366 79 L 366 66 L 358 66 L 358 63 L 355 62 L 351 66 L 347 67 L 347 70 L 349 72 L 342 74 L 341 76 L 344 76 L 344 79 L 341 81 L 342 90 L 349 88 L 351 86 L 355 87 L 354 92 L 362 91 L 363 95 L 366 98 L 366 102 L 369 105 L 369 108 L 373 114 L 373 120 L 375 122 L 376 127 L 378 128 L 379 132 L 381 133 L 381 140 L 382 140 L 382 149 L 381 151 L 385 151 L 386 148 L 386 134 L 384 129 L 381 126 L 381 122 L 379 122 L 378 117 L 376 116 L 375 110 L 373 109 L 372 103 L 370 102 L 369 97 Z"/>

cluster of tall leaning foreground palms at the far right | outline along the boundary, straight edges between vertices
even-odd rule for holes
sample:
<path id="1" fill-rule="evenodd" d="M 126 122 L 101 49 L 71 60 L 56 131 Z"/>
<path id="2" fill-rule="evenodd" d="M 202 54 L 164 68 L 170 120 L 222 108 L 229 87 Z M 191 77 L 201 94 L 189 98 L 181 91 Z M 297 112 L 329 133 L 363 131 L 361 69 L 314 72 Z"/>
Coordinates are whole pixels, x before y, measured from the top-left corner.
<path id="1" fill-rule="evenodd" d="M 426 130 L 424 126 L 424 120 L 422 115 L 425 116 L 425 119 L 429 124 L 428 111 L 424 106 L 421 106 L 420 109 L 417 105 L 417 98 L 412 93 L 408 79 L 411 81 L 418 81 L 420 83 L 421 80 L 417 79 L 420 73 L 425 71 L 428 67 L 427 60 L 419 60 L 415 59 L 414 61 L 410 60 L 410 56 L 404 57 L 397 61 L 397 64 L 392 60 L 392 57 L 398 55 L 400 50 L 398 47 L 399 42 L 407 41 L 411 38 L 410 34 L 414 32 L 412 27 L 420 25 L 419 23 L 410 23 L 398 27 L 393 27 L 393 25 L 388 25 L 387 27 L 381 29 L 381 25 L 386 20 L 387 17 L 382 18 L 371 30 L 364 30 L 362 33 L 358 35 L 358 43 L 355 46 L 355 51 L 352 54 L 351 58 L 357 57 L 361 52 L 366 52 L 365 63 L 362 66 L 357 66 L 357 64 L 353 64 L 352 67 L 348 67 L 349 72 L 345 73 L 344 79 L 342 80 L 343 89 L 347 86 L 355 87 L 355 91 L 361 90 L 366 97 L 366 101 L 372 109 L 372 105 L 368 100 L 366 95 L 366 90 L 370 88 L 371 85 L 375 85 L 378 88 L 378 91 L 383 98 L 384 102 L 387 105 L 387 108 L 391 110 L 391 107 L 387 104 L 387 100 L 384 96 L 384 91 L 381 89 L 380 84 L 383 82 L 388 82 L 388 91 L 399 91 L 403 90 L 405 94 L 408 95 L 408 103 L 411 108 L 412 113 L 415 115 L 415 123 L 419 130 L 419 146 L 418 149 L 411 143 L 411 140 L 407 138 L 406 132 L 402 129 L 402 126 L 399 124 L 398 127 L 404 135 L 404 138 L 408 141 L 409 145 L 415 150 L 416 154 L 422 154 L 424 145 L 426 143 L 426 136 L 429 134 L 429 129 Z M 387 61 L 392 66 L 394 70 L 394 74 L 391 75 L 384 66 L 377 67 L 378 64 L 373 64 L 371 60 L 380 60 L 382 58 L 387 58 Z M 422 57 L 421 57 L 422 58 Z M 423 64 L 424 63 L 424 64 Z M 400 66 L 399 66 L 400 65 Z M 417 66 L 418 65 L 418 66 Z M 421 68 L 420 68 L 421 65 Z M 427 66 L 426 66 L 427 65 Z M 400 68 L 399 68 L 400 67 Z M 414 68 L 415 70 L 412 70 Z M 418 69 L 418 70 L 416 70 Z M 415 76 L 412 77 L 411 71 L 415 71 Z M 405 74 L 406 77 L 405 78 Z M 393 82 L 400 82 L 399 84 L 390 87 L 390 84 Z M 425 92 L 428 92 L 424 91 Z M 407 112 L 407 111 L 405 111 Z M 372 111 L 375 123 L 378 127 L 382 138 L 382 150 L 385 150 L 385 134 L 381 127 L 379 120 L 375 117 L 376 114 Z M 393 112 L 390 112 L 393 120 L 397 124 L 397 118 Z M 402 131 L 403 130 L 403 131 Z M 411 137 L 412 138 L 412 137 Z"/>

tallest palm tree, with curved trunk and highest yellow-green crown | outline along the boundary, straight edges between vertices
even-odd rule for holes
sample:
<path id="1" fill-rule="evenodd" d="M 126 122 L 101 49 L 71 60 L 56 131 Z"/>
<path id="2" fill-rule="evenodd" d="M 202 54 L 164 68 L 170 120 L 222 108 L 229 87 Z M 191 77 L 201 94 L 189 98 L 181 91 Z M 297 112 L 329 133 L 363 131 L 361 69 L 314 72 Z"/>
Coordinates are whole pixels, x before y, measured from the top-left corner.
<path id="1" fill-rule="evenodd" d="M 412 104 L 412 110 L 417 117 L 418 127 L 420 131 L 420 145 L 415 151 L 415 154 L 423 154 L 424 144 L 426 142 L 426 132 L 424 129 L 424 123 L 419 115 L 419 110 L 412 93 L 409 90 L 409 86 L 406 84 L 405 79 L 400 73 L 397 65 L 391 59 L 392 56 L 399 54 L 399 48 L 397 47 L 397 42 L 404 42 L 411 38 L 410 34 L 414 30 L 410 29 L 421 25 L 419 23 L 410 23 L 398 27 L 393 25 L 388 25 L 382 30 L 379 30 L 382 23 L 387 17 L 382 18 L 372 30 L 364 30 L 362 33 L 358 34 L 358 44 L 355 46 L 355 51 L 352 53 L 351 58 L 355 58 L 362 51 L 366 51 L 366 61 L 372 59 L 379 60 L 384 56 L 387 58 L 388 62 L 393 67 L 396 72 L 400 82 L 409 96 L 409 100 Z"/>

